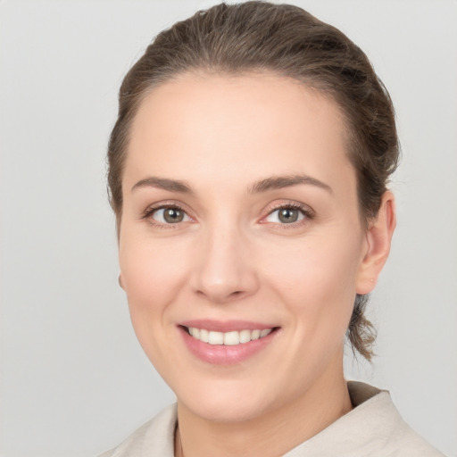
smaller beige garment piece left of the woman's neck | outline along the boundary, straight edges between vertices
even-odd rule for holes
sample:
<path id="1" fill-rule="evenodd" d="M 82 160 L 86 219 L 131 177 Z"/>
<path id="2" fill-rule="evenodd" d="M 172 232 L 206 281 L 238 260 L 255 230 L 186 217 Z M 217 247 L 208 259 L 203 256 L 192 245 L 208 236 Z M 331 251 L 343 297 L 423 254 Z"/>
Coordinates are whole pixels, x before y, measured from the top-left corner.
<path id="1" fill-rule="evenodd" d="M 138 428 L 119 446 L 99 457 L 173 457 L 176 418 L 176 404 L 171 404 Z"/>

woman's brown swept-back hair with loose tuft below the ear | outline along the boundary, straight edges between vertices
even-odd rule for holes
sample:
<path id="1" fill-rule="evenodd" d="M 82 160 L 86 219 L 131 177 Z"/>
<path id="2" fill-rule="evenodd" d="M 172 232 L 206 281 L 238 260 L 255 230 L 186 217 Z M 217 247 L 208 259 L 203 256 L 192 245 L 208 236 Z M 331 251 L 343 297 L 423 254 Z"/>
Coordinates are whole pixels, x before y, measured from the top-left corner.
<path id="1" fill-rule="evenodd" d="M 331 97 L 345 116 L 362 220 L 376 216 L 399 147 L 394 108 L 367 56 L 340 30 L 289 4 L 218 4 L 162 31 L 125 76 L 108 148 L 108 186 L 118 228 L 129 130 L 152 87 L 188 71 L 270 71 Z M 355 298 L 347 337 L 370 360 L 375 331 Z"/>

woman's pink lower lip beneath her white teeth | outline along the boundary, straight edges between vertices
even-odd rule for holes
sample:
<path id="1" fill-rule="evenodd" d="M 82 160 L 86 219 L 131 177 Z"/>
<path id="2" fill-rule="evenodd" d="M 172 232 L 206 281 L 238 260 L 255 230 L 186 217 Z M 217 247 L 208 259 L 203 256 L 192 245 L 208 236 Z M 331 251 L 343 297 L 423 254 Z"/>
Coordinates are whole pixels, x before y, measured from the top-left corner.
<path id="1" fill-rule="evenodd" d="M 210 345 L 191 337 L 185 328 L 179 327 L 179 330 L 189 351 L 198 359 L 212 365 L 236 365 L 246 361 L 270 345 L 277 333 L 275 328 L 266 337 L 254 339 L 240 345 Z"/>

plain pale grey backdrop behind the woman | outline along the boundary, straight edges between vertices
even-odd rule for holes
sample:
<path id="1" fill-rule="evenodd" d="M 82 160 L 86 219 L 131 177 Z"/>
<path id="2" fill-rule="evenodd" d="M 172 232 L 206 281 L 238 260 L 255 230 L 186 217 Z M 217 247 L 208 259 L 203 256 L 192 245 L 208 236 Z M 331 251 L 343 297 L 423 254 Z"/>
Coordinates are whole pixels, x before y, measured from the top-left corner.
<path id="1" fill-rule="evenodd" d="M 215 2 L 0 3 L 0 454 L 82 457 L 174 396 L 117 285 L 104 154 L 116 93 L 161 29 Z M 457 3 L 303 0 L 369 55 L 396 106 L 398 228 L 370 304 L 372 365 L 403 417 L 457 456 Z"/>

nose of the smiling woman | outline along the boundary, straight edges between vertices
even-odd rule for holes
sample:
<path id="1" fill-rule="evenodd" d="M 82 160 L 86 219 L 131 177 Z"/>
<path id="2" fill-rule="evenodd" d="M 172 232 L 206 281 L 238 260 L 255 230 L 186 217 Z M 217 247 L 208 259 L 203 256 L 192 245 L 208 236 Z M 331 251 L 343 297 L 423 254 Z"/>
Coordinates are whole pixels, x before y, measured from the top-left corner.
<path id="1" fill-rule="evenodd" d="M 253 295 L 259 287 L 249 243 L 240 230 L 214 228 L 196 245 L 191 287 L 212 303 L 228 303 Z"/>

